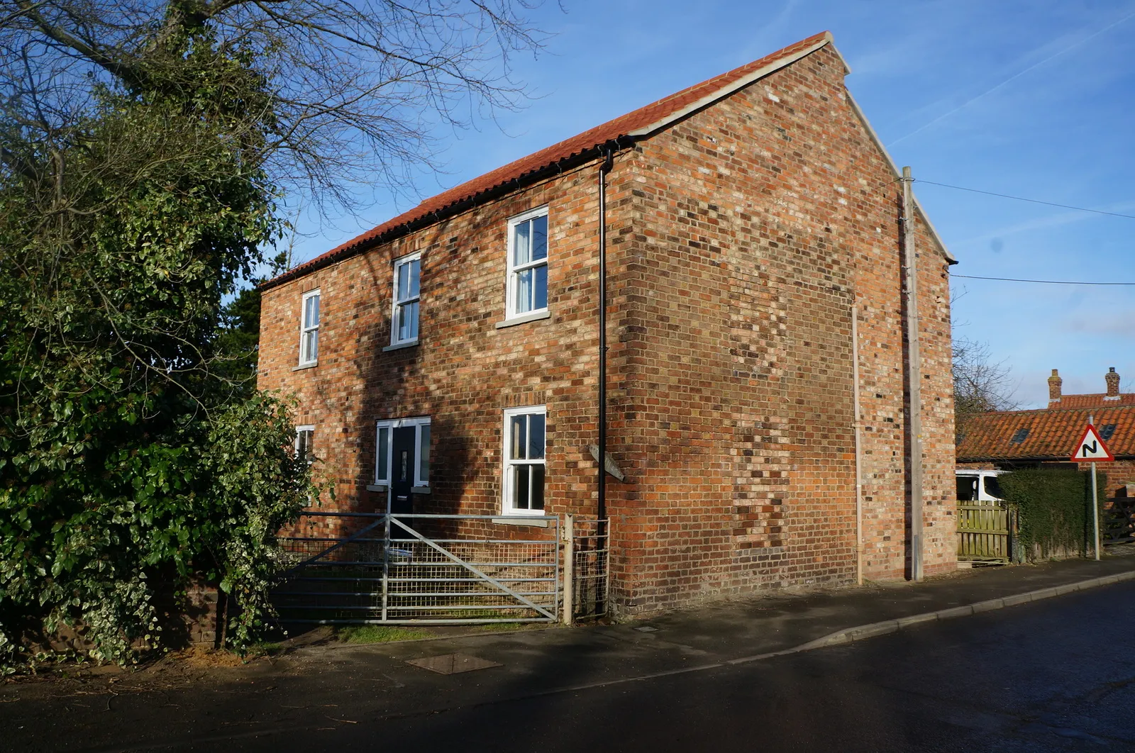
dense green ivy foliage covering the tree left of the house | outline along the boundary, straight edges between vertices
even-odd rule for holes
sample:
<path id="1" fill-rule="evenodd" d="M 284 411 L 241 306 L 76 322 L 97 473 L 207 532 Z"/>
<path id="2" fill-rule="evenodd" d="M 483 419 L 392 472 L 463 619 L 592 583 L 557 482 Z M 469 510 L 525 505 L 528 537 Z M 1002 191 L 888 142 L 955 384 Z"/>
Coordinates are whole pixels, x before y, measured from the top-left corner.
<path id="1" fill-rule="evenodd" d="M 0 169 L 0 671 L 59 623 L 129 660 L 162 640 L 158 591 L 191 576 L 232 592 L 247 644 L 275 532 L 318 494 L 288 406 L 235 389 L 218 345 L 278 231 L 253 159 L 270 95 L 207 29 L 170 44 L 151 88 L 0 128 L 26 168 Z"/>

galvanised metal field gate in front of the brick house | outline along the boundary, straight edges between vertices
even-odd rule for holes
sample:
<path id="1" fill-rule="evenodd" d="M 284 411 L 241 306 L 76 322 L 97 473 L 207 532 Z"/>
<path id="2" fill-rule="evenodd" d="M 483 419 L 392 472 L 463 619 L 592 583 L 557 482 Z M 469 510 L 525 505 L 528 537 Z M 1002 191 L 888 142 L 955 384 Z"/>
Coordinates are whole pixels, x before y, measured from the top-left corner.
<path id="1" fill-rule="evenodd" d="M 287 623 L 552 623 L 560 522 L 489 515 L 304 513 L 280 536 L 272 601 Z"/>

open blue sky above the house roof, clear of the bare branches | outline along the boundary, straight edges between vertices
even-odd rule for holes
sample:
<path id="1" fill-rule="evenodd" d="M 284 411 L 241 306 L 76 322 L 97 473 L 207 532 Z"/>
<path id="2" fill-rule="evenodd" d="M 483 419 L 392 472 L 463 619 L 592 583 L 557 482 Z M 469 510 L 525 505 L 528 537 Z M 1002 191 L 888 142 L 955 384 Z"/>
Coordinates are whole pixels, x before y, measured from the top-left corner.
<path id="1" fill-rule="evenodd" d="M 514 76 L 536 99 L 471 130 L 439 132 L 444 174 L 421 197 L 829 29 L 848 87 L 915 178 L 1135 215 L 1135 0 L 563 0 L 535 11 L 553 36 Z M 1133 281 L 1135 219 L 967 193 L 916 193 L 959 274 Z M 303 261 L 410 209 L 380 189 L 360 217 L 301 217 Z M 1023 407 L 1135 389 L 1135 287 L 955 280 L 959 336 L 1011 366 Z"/>

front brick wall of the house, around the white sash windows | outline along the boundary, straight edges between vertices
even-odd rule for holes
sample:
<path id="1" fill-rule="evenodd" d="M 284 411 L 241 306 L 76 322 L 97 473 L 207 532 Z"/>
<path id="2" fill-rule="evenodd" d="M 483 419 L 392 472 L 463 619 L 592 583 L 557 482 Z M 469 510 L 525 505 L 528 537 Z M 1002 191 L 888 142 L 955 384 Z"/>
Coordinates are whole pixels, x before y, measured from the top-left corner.
<path id="1" fill-rule="evenodd" d="M 552 318 L 496 329 L 506 220 L 545 203 Z M 585 446 L 596 431 L 596 208 L 592 170 L 574 171 L 264 293 L 260 387 L 299 396 L 296 422 L 316 425 L 317 471 L 334 477 L 335 508 L 385 510 L 385 492 L 365 489 L 375 422 L 428 415 L 431 493 L 418 509 L 499 514 L 502 411 L 543 404 L 549 511 L 594 509 Z M 420 344 L 384 353 L 392 262 L 414 251 Z M 317 287 L 319 362 L 295 371 L 301 295 Z"/>

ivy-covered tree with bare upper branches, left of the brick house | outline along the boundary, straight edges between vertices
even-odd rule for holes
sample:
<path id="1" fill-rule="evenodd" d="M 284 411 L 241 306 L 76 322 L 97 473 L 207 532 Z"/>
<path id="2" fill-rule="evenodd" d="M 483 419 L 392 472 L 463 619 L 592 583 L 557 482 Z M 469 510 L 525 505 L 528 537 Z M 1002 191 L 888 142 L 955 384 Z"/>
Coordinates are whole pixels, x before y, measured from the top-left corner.
<path id="1" fill-rule="evenodd" d="M 396 183 L 428 112 L 507 104 L 493 43 L 535 44 L 505 0 L 0 5 L 0 670 L 59 621 L 159 643 L 154 581 L 193 573 L 255 637 L 319 489 L 237 288 L 286 196 Z"/>

